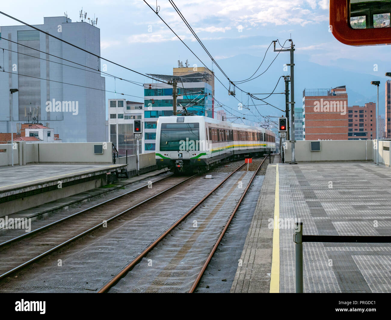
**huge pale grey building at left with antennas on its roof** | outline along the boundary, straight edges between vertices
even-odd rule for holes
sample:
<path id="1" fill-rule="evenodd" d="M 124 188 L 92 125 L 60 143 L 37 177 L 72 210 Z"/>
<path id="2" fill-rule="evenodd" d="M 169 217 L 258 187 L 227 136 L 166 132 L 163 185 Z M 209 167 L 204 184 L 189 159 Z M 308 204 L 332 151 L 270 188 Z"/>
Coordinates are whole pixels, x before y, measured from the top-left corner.
<path id="1" fill-rule="evenodd" d="M 67 17 L 45 17 L 43 25 L 34 27 L 100 55 L 100 30 L 89 23 L 72 22 Z M 4 68 L 11 72 L 0 72 L 0 96 L 3 97 L 0 132 L 15 132 L 16 123 L 33 120 L 34 123 L 48 122 L 63 142 L 106 140 L 104 78 L 99 71 L 88 72 L 86 70 L 91 69 L 83 70 L 82 66 L 72 63 L 97 70 L 100 65 L 97 57 L 24 25 L 2 26 L 0 36 L 1 47 L 5 48 L 1 71 Z M 10 89 L 19 90 L 13 94 L 13 99 Z M 11 128 L 11 115 L 14 128 Z"/>

